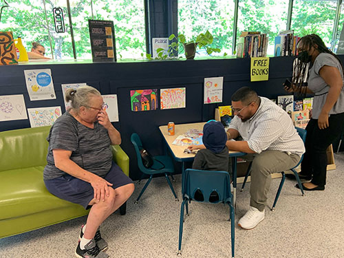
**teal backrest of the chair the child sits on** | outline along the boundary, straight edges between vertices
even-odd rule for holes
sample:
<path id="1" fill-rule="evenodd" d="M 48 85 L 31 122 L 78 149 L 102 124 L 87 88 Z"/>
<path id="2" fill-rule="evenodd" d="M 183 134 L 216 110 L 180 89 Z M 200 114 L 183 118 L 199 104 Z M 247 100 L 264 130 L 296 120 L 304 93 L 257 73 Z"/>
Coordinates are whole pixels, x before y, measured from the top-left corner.
<path id="1" fill-rule="evenodd" d="M 182 178 L 182 196 L 195 200 L 195 193 L 200 190 L 204 202 L 209 202 L 209 197 L 214 191 L 219 195 L 217 202 L 231 202 L 230 175 L 226 171 L 204 171 L 186 169 Z"/>

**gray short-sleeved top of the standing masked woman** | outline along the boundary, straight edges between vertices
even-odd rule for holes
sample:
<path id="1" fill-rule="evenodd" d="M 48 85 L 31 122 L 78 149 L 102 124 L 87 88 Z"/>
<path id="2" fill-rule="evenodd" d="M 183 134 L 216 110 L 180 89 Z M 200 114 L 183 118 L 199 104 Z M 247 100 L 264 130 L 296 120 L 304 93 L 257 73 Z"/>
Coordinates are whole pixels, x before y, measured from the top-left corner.
<path id="1" fill-rule="evenodd" d="M 327 85 L 325 83 L 325 80 L 323 80 L 323 78 L 321 78 L 321 76 L 319 75 L 319 70 L 324 65 L 338 68 L 343 80 L 343 69 L 341 67 L 341 63 L 339 63 L 336 57 L 328 53 L 320 53 L 318 56 L 316 56 L 314 64 L 310 68 L 310 71 L 309 71 L 310 77 L 308 78 L 308 88 L 312 90 L 312 92 L 314 92 L 313 109 L 312 109 L 312 118 L 314 119 L 319 118 L 321 109 L 323 109 L 323 105 L 325 105 L 327 93 L 330 89 L 330 86 Z M 330 114 L 339 114 L 343 112 L 344 112 L 344 89 L 342 87 L 341 94 L 339 94 L 337 102 L 334 104 L 334 106 L 330 110 Z"/>

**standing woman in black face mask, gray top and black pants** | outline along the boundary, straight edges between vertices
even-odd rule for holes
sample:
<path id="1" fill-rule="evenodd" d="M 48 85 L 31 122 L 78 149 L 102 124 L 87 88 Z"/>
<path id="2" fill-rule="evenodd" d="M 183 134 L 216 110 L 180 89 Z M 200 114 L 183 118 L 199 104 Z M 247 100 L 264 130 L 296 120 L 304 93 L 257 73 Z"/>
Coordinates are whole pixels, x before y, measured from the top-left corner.
<path id="1" fill-rule="evenodd" d="M 305 128 L 305 154 L 299 175 L 310 180 L 303 183 L 304 190 L 319 191 L 324 190 L 326 184 L 326 149 L 341 135 L 344 123 L 343 64 L 316 34 L 303 36 L 297 50 L 298 72 L 294 74 L 293 86 L 288 91 L 303 96 L 314 94 L 312 118 Z M 303 72 L 305 63 L 310 63 L 308 86 L 303 86 L 307 76 Z"/>

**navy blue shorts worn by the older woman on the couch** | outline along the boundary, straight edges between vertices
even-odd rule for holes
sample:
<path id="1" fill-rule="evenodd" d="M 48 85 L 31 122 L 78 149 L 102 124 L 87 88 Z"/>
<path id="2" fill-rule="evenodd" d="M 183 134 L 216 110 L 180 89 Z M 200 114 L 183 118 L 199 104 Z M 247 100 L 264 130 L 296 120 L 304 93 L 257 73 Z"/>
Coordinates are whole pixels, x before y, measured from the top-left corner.
<path id="1" fill-rule="evenodd" d="M 113 184 L 113 189 L 133 183 L 115 162 L 112 162 L 111 169 L 104 179 Z M 94 199 L 94 190 L 89 182 L 65 174 L 59 178 L 44 180 L 44 183 L 47 190 L 58 198 L 80 204 L 85 209 L 91 208 L 88 204 Z"/>

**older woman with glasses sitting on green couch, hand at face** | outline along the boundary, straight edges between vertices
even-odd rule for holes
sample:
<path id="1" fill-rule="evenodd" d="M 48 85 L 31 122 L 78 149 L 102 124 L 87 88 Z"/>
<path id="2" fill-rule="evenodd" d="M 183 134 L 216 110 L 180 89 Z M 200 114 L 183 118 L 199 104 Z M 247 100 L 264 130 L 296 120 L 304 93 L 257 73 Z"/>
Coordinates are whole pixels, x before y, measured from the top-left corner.
<path id="1" fill-rule="evenodd" d="M 54 122 L 47 138 L 47 190 L 69 202 L 91 208 L 81 228 L 78 257 L 107 258 L 107 242 L 100 224 L 133 193 L 133 182 L 112 161 L 110 144 L 120 144 L 120 133 L 111 125 L 97 89 L 67 89 L 71 108 Z"/>

